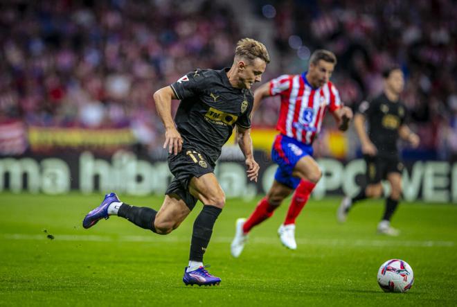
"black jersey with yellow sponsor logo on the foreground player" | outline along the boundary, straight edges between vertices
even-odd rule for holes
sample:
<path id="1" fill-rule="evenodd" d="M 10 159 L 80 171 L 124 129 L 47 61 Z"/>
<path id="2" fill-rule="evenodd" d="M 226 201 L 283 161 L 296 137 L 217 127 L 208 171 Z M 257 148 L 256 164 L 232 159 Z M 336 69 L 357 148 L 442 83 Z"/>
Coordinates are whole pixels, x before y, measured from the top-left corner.
<path id="1" fill-rule="evenodd" d="M 233 87 L 227 71 L 197 69 L 170 85 L 181 100 L 174 122 L 183 148 L 199 150 L 213 164 L 235 125 L 251 128 L 253 94 L 249 89 Z"/>

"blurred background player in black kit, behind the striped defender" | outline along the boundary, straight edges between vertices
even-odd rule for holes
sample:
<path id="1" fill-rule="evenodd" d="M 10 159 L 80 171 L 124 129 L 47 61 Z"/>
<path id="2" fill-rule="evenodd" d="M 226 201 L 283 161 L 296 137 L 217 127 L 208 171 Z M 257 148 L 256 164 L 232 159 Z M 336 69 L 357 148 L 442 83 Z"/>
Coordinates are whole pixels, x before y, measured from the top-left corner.
<path id="1" fill-rule="evenodd" d="M 377 226 L 379 234 L 398 236 L 400 231 L 391 227 L 391 218 L 397 209 L 402 193 L 403 164 L 397 150 L 400 137 L 414 148 L 419 145 L 419 137 L 405 124 L 406 109 L 399 100 L 404 87 L 404 76 L 398 67 L 387 69 L 383 73 L 384 92 L 370 103 L 359 105 L 354 125 L 361 142 L 361 150 L 366 161 L 366 188 L 362 188 L 355 198 L 345 197 L 337 211 L 339 222 L 345 222 L 350 209 L 366 198 L 379 198 L 382 193 L 382 179 L 387 179 L 391 194 L 386 199 L 386 209 Z M 365 130 L 368 122 L 368 134 Z"/>

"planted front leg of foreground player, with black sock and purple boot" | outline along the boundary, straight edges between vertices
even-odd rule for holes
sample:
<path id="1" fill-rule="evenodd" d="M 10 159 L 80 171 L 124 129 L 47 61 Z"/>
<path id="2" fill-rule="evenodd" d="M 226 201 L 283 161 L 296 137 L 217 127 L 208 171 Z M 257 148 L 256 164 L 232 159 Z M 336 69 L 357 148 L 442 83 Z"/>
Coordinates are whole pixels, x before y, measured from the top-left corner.
<path id="1" fill-rule="evenodd" d="M 208 247 L 217 217 L 225 205 L 225 194 L 214 173 L 206 173 L 200 177 L 192 177 L 189 192 L 203 204 L 195 219 L 192 240 L 190 243 L 189 265 L 184 272 L 183 281 L 186 285 L 214 285 L 221 280 L 213 277 L 204 268 L 203 256 Z"/>

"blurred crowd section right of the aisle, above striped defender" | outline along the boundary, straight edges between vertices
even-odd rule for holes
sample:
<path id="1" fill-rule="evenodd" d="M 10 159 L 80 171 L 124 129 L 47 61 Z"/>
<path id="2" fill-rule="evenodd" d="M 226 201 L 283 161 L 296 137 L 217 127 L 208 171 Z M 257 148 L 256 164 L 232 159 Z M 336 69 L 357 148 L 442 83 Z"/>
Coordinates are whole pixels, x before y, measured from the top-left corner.
<path id="1" fill-rule="evenodd" d="M 400 65 L 406 77 L 402 100 L 421 137 L 421 150 L 457 160 L 456 1 L 256 3 L 275 24 L 274 40 L 282 66 L 288 67 L 284 71 L 305 69 L 303 60 L 314 49 L 334 51 L 338 65 L 332 80 L 354 109 L 382 91 L 383 69 Z M 264 112 L 265 121 L 271 109 Z"/>

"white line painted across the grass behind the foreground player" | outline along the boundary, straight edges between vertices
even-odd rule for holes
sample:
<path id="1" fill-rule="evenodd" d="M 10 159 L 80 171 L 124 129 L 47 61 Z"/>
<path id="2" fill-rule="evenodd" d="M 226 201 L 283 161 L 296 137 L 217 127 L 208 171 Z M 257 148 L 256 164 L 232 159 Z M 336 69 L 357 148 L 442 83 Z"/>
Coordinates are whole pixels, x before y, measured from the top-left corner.
<path id="1" fill-rule="evenodd" d="M 48 240 L 46 234 L 0 234 L 3 240 Z M 188 239 L 176 236 L 97 236 L 97 235 L 69 235 L 55 234 L 58 241 L 88 241 L 88 242 L 150 242 L 150 243 L 189 243 Z M 232 238 L 214 237 L 212 242 L 231 243 Z M 278 244 L 278 238 L 257 237 L 250 238 L 251 243 L 258 244 Z M 454 241 L 435 241 L 435 240 L 347 240 L 347 239 L 301 239 L 297 243 L 300 245 L 323 245 L 341 247 L 454 247 Z"/>

